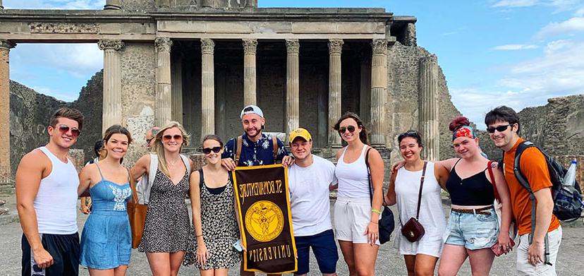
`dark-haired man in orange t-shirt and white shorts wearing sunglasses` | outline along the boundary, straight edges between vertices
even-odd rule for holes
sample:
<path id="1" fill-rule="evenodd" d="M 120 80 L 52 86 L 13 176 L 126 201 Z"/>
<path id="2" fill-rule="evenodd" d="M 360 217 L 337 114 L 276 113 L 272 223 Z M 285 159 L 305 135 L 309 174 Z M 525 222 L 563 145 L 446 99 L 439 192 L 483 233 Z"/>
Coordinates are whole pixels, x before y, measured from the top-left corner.
<path id="1" fill-rule="evenodd" d="M 531 232 L 531 200 L 513 173 L 513 160 L 519 144 L 519 116 L 509 107 L 497 107 L 485 116 L 487 132 L 495 146 L 504 150 L 504 175 L 511 192 L 511 207 L 520 237 L 517 251 L 518 275 L 556 275 L 556 258 L 561 244 L 561 226 L 552 214 L 552 181 L 545 157 L 537 148 L 527 148 L 521 155 L 519 168 L 535 196 L 535 230 Z M 529 236 L 533 241 L 529 243 Z M 545 236 L 548 236 L 549 257 L 545 262 Z"/>

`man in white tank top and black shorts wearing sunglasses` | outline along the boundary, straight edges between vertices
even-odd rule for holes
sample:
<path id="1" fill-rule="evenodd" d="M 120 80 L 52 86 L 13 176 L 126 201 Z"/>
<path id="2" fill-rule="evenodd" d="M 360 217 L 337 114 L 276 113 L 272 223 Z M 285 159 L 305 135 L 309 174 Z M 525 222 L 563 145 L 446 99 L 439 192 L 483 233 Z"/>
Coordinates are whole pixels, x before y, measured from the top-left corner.
<path id="1" fill-rule="evenodd" d="M 22 275 L 78 275 L 79 179 L 69 148 L 83 114 L 61 108 L 49 121 L 49 143 L 26 154 L 16 170 L 16 206 L 23 227 Z"/>

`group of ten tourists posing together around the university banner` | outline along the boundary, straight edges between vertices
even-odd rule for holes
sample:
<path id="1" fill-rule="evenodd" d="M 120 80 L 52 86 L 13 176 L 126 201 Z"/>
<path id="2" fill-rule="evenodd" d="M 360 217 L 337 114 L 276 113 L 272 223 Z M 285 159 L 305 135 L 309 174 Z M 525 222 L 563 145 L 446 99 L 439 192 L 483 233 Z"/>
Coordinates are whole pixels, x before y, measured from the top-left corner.
<path id="1" fill-rule="evenodd" d="M 406 131 L 398 137 L 402 162 L 393 165 L 384 195 L 384 162 L 368 145 L 359 116 L 343 114 L 334 125 L 346 143 L 336 154 L 336 165 L 312 154 L 313 140 L 305 128 L 284 143 L 263 132 L 266 119 L 260 107 L 241 111 L 243 135 L 226 143 L 216 135 L 202 139 L 206 164 L 193 171 L 193 162 L 181 155 L 190 137 L 181 124 L 171 122 L 146 133 L 150 153 L 132 168 L 122 160 L 132 143 L 130 132 L 114 125 L 104 133 L 99 158 L 78 174 L 68 150 L 83 127 L 83 114 L 61 108 L 51 117 L 49 143 L 23 157 L 16 173 L 16 196 L 23 228 L 23 275 L 78 275 L 79 265 L 90 275 L 125 275 L 130 264 L 132 235 L 126 203 L 130 183 L 137 180 L 140 203 L 147 205 L 145 229 L 138 251 L 145 252 L 153 275 L 178 275 L 181 265 L 194 264 L 201 275 L 227 275 L 241 260 L 241 233 L 235 207 L 231 170 L 238 166 L 281 163 L 288 167 L 288 189 L 298 271 L 309 272 L 310 248 L 322 275 L 336 275 L 336 241 L 350 275 L 375 275 L 379 251 L 382 205 L 397 204 L 399 227 L 394 247 L 403 254 L 408 275 L 456 275 L 466 258 L 473 275 L 488 275 L 493 246 L 507 253 L 513 248 L 511 221 L 520 235 L 517 271 L 523 275 L 555 275 L 561 227 L 552 215 L 553 201 L 545 160 L 530 148 L 521 169 L 537 198 L 537 225 L 531 231 L 528 192 L 513 174 L 482 156 L 468 119 L 455 118 L 450 126 L 458 158 L 422 160 L 422 137 Z M 487 114 L 490 138 L 512 160 L 523 141 L 519 120 L 509 107 Z M 441 188 L 451 197 L 449 220 L 442 210 Z M 329 191 L 337 189 L 334 231 Z M 90 196 L 91 208 L 78 236 L 78 197 Z M 190 197 L 192 221 L 185 196 Z M 494 203 L 502 205 L 497 215 Z M 409 241 L 401 227 L 416 217 L 425 229 L 418 241 Z M 549 233 L 548 233 L 549 232 Z M 549 258 L 544 239 L 549 238 Z M 335 241 L 336 239 L 336 241 Z M 254 275 L 243 271 L 241 275 Z"/>

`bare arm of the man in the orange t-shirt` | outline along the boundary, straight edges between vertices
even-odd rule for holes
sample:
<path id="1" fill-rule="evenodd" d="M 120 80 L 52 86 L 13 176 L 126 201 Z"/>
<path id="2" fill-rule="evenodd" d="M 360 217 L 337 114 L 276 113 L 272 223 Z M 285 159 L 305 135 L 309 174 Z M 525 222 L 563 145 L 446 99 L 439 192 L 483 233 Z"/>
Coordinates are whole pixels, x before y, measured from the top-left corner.
<path id="1" fill-rule="evenodd" d="M 545 234 L 552 222 L 552 212 L 554 211 L 554 200 L 549 188 L 542 188 L 533 193 L 537 200 L 535 212 L 535 231 L 533 232 L 533 243 L 528 249 L 528 260 L 532 265 L 537 265 L 544 261 Z"/>

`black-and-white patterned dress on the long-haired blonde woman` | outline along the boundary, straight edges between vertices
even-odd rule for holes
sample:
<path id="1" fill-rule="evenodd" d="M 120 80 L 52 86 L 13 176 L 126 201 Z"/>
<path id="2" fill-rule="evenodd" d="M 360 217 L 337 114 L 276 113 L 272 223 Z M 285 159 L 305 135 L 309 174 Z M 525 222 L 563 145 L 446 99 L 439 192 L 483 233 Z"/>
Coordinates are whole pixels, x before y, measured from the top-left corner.
<path id="1" fill-rule="evenodd" d="M 190 232 L 190 220 L 185 204 L 188 193 L 188 172 L 178 184 L 172 183 L 160 169 L 150 191 L 150 201 L 146 211 L 146 224 L 140 252 L 186 251 Z"/>

